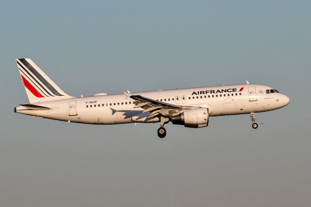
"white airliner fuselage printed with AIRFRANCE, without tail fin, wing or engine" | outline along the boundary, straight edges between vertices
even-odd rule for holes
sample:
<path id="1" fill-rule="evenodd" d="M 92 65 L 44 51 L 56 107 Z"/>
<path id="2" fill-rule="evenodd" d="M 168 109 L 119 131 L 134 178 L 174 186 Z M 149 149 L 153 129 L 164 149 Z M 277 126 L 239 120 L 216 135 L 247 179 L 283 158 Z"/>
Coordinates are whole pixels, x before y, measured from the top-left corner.
<path id="1" fill-rule="evenodd" d="M 287 105 L 289 98 L 281 93 L 266 93 L 270 86 L 240 84 L 150 92 L 131 93 L 163 103 L 180 106 L 208 108 L 209 116 L 223 116 L 270 111 Z M 17 113 L 61 121 L 88 124 L 121 124 L 133 122 L 158 122 L 158 117 L 148 118 L 142 108 L 134 108 L 134 100 L 125 94 L 95 95 L 56 101 L 38 102 L 35 105 L 49 110 L 29 110 L 17 106 Z"/>

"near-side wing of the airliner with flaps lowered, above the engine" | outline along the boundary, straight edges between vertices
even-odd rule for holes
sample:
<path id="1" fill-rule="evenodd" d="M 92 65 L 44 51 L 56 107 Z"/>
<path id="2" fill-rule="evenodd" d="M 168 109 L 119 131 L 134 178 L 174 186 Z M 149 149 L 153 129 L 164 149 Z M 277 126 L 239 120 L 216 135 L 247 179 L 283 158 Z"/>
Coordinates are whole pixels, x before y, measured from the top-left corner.
<path id="1" fill-rule="evenodd" d="M 193 108 L 187 106 L 180 106 L 175 104 L 168 104 L 164 102 L 159 102 L 150 98 L 146 98 L 140 95 L 129 95 L 131 99 L 134 99 L 133 102 L 135 104 L 134 108 L 143 108 L 145 109 L 142 113 L 150 112 L 148 118 L 155 117 L 158 115 L 164 115 L 167 117 L 173 117 L 184 110 Z"/>

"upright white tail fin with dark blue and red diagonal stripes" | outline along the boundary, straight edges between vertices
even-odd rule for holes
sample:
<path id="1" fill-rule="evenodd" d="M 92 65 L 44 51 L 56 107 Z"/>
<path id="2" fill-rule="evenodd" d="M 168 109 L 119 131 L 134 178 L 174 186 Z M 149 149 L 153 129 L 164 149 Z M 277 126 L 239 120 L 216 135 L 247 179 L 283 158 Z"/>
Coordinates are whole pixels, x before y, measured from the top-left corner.
<path id="1" fill-rule="evenodd" d="M 16 59 L 16 64 L 30 103 L 73 98 L 60 89 L 31 59 Z"/>

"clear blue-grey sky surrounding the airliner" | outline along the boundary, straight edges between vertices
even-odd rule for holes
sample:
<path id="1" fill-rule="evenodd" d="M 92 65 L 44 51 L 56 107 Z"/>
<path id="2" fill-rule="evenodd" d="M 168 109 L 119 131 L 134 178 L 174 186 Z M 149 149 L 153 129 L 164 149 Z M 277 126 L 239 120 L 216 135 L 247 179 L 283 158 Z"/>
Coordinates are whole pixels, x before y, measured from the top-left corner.
<path id="1" fill-rule="evenodd" d="M 309 207 L 311 1 L 1 1 L 0 206 Z M 206 128 L 14 113 L 15 58 L 72 96 L 258 83 L 284 108 Z M 309 106 L 308 106 L 309 105 Z"/>

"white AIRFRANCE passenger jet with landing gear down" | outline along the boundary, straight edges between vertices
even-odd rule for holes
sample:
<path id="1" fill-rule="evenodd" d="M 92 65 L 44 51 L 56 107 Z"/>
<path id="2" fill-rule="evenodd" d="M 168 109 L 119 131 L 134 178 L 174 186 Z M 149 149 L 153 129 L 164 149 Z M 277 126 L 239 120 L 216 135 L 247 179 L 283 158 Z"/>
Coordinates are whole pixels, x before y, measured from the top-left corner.
<path id="1" fill-rule="evenodd" d="M 58 87 L 31 59 L 16 59 L 29 99 L 14 112 L 59 121 L 86 124 L 160 122 L 159 138 L 166 136 L 164 124 L 190 128 L 207 127 L 209 117 L 255 114 L 286 106 L 290 98 L 260 84 L 195 87 L 149 92 L 97 93 L 73 97 Z"/>

